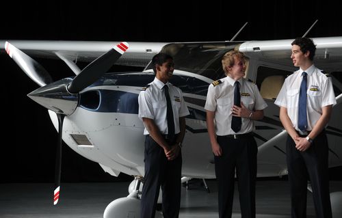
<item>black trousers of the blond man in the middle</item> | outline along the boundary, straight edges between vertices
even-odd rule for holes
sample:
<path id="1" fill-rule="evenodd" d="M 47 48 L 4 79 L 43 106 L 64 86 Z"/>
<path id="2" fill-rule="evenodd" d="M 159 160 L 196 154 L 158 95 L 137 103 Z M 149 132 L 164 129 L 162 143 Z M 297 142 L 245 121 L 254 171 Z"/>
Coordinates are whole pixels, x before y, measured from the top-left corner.
<path id="1" fill-rule="evenodd" d="M 235 170 L 242 218 L 255 217 L 255 180 L 257 178 L 257 143 L 252 134 L 245 137 L 218 136 L 222 156 L 215 158 L 220 218 L 232 217 Z"/>

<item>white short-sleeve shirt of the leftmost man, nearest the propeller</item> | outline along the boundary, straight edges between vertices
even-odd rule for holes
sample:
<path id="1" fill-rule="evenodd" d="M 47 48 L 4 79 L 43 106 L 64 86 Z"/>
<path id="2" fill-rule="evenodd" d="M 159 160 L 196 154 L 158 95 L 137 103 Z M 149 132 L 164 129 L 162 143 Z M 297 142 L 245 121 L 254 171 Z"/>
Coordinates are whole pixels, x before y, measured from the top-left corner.
<path id="1" fill-rule="evenodd" d="M 189 110 L 185 105 L 183 93 L 181 89 L 175 87 L 171 83 L 164 84 L 157 79 L 148 84 L 146 90 L 140 92 L 138 97 L 139 102 L 139 118 L 150 118 L 155 121 L 161 134 L 168 134 L 168 121 L 166 119 L 166 98 L 163 86 L 168 85 L 168 92 L 172 103 L 172 111 L 174 117 L 174 133 L 178 134 L 179 118 L 189 115 Z M 144 129 L 144 135 L 148 135 L 148 131 Z"/>

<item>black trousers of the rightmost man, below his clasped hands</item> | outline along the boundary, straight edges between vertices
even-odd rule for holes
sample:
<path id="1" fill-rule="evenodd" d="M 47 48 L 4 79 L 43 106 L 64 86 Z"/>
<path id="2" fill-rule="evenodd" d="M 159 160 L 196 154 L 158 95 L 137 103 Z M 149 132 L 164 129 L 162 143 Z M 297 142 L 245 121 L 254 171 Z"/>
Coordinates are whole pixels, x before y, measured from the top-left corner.
<path id="1" fill-rule="evenodd" d="M 304 137 L 304 136 L 303 136 Z M 287 137 L 287 168 L 291 187 L 292 218 L 306 217 L 306 188 L 308 179 L 313 189 L 316 216 L 331 218 L 328 175 L 328 139 L 322 131 L 308 150 L 300 152 L 293 139 Z"/>

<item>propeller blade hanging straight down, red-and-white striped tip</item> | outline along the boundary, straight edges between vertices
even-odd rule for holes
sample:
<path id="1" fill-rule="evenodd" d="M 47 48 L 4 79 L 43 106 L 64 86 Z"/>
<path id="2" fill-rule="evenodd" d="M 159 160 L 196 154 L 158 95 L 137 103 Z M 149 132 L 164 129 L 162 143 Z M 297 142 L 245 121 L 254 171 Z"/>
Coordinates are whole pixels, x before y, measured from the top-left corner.
<path id="1" fill-rule="evenodd" d="M 56 149 L 56 163 L 55 163 L 55 191 L 53 192 L 53 205 L 58 203 L 60 199 L 60 183 L 61 183 L 61 166 L 62 166 L 62 128 L 64 121 L 64 114 L 57 113 L 58 118 L 58 144 Z"/>

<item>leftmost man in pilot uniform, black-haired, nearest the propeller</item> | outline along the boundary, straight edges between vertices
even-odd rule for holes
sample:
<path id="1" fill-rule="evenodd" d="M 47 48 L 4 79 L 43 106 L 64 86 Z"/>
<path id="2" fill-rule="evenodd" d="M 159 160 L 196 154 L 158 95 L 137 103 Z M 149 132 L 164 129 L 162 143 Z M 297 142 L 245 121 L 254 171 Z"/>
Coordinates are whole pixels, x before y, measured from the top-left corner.
<path id="1" fill-rule="evenodd" d="M 182 91 L 168 82 L 174 71 L 173 58 L 158 53 L 153 57 L 152 65 L 155 79 L 145 91 L 140 92 L 138 98 L 139 118 L 144 122 L 146 135 L 141 217 L 155 217 L 161 187 L 163 217 L 178 218 L 181 204 L 181 148 L 185 135 L 185 116 L 189 115 L 189 110 Z M 169 107 L 167 98 L 170 99 Z M 169 111 L 172 115 L 168 114 Z M 170 116 L 172 118 L 168 119 Z"/>

